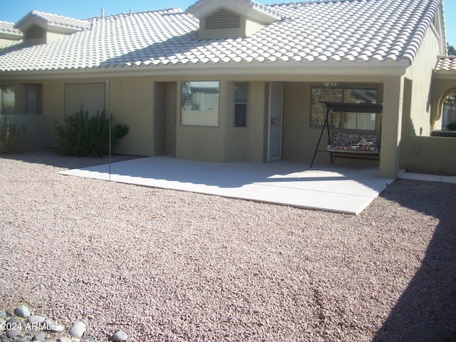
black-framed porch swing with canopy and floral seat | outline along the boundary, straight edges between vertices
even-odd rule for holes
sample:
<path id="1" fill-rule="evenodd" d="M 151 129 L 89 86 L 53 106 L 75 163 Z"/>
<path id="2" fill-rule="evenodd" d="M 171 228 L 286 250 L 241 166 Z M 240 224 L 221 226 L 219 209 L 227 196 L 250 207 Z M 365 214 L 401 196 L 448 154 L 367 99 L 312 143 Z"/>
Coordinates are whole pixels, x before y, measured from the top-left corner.
<path id="1" fill-rule="evenodd" d="M 326 105 L 325 122 L 321 128 L 320 137 L 315 147 L 314 157 L 312 157 L 311 167 L 317 152 L 329 152 L 331 164 L 333 157 L 374 159 L 380 157 L 380 132 L 376 134 L 364 134 L 349 131 L 334 132 L 333 112 L 340 113 L 362 113 L 366 115 L 381 115 L 383 105 L 377 103 L 336 103 L 321 102 Z M 381 126 L 381 125 L 380 125 Z M 318 150 L 323 132 L 328 132 L 328 145 L 326 150 Z"/>

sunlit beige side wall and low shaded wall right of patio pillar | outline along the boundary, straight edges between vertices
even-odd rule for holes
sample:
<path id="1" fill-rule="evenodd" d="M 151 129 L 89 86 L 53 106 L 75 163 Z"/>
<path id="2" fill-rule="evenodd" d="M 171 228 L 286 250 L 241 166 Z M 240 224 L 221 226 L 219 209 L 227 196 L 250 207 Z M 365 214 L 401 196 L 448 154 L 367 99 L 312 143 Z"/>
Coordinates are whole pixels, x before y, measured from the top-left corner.
<path id="1" fill-rule="evenodd" d="M 413 65 L 404 78 L 403 130 L 400 142 L 400 167 L 414 172 L 455 173 L 456 162 L 449 151 L 454 150 L 456 139 L 430 137 L 432 129 L 441 128 L 437 114 L 440 96 L 445 90 L 456 88 L 454 81 L 432 80 L 438 36 L 428 30 Z M 432 119 L 437 118 L 433 127 Z"/>

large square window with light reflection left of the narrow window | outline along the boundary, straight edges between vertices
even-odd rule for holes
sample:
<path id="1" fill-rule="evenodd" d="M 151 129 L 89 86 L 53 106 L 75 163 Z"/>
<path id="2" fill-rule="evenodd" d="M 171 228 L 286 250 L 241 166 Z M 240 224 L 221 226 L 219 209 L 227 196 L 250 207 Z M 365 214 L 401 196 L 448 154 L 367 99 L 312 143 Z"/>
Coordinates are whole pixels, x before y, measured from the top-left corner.
<path id="1" fill-rule="evenodd" d="M 219 125 L 219 82 L 182 82 L 182 125 Z"/>

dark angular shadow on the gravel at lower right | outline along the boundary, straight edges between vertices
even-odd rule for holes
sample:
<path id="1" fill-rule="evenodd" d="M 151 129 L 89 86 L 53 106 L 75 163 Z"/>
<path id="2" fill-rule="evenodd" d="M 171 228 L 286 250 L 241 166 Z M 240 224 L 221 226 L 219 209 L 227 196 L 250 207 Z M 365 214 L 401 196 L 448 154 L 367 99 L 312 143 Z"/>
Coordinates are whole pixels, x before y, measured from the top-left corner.
<path id="1" fill-rule="evenodd" d="M 397 180 L 382 197 L 440 222 L 373 341 L 456 341 L 456 185 Z"/>

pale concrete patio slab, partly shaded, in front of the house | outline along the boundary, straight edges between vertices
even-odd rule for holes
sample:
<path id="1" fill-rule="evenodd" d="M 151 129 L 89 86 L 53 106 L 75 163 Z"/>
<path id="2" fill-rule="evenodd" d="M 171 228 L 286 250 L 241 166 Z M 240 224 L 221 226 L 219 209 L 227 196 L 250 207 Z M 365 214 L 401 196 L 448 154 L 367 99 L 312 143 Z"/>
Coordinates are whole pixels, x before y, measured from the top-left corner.
<path id="1" fill-rule="evenodd" d="M 362 212 L 393 182 L 378 177 L 378 165 L 369 163 L 310 168 L 289 160 L 197 162 L 169 156 L 59 173 L 346 214 Z"/>

